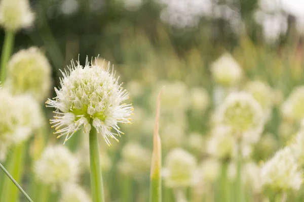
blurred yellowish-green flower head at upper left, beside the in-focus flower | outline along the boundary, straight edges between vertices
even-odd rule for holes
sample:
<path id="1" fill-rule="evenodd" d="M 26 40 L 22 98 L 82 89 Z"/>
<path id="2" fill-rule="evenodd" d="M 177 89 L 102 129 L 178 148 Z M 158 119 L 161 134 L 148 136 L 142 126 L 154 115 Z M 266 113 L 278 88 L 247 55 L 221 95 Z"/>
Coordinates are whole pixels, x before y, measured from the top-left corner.
<path id="1" fill-rule="evenodd" d="M 14 93 L 29 92 L 42 101 L 48 96 L 51 87 L 51 66 L 37 47 L 30 47 L 12 56 L 7 77 L 7 86 Z"/>

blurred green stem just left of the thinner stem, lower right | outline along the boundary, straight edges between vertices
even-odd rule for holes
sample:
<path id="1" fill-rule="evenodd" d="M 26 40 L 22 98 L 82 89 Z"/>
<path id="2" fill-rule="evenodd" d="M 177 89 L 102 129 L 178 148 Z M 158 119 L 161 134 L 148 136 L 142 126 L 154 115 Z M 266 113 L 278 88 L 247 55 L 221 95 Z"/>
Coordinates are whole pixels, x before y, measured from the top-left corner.
<path id="1" fill-rule="evenodd" d="M 224 161 L 221 167 L 220 189 L 221 201 L 230 202 L 230 186 L 227 177 L 229 161 Z"/>

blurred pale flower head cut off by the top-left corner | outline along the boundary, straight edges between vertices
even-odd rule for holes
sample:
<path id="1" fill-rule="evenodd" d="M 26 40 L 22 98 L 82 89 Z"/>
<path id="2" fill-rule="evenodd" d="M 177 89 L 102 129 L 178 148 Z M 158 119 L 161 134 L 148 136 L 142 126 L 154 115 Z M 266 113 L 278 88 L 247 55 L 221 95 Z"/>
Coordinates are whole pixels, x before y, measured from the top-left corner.
<path id="1" fill-rule="evenodd" d="M 28 0 L 2 0 L 0 2 L 0 25 L 7 30 L 17 31 L 32 25 L 34 14 Z"/>

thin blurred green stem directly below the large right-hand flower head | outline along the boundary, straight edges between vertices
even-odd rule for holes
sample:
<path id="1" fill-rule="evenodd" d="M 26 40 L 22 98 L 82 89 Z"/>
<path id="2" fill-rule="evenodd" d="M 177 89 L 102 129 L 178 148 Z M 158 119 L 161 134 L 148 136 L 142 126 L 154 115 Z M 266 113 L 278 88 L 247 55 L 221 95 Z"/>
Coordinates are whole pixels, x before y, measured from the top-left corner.
<path id="1" fill-rule="evenodd" d="M 236 178 L 236 202 L 243 202 L 243 186 L 242 186 L 242 148 L 238 145 L 237 157 L 237 178 Z"/>

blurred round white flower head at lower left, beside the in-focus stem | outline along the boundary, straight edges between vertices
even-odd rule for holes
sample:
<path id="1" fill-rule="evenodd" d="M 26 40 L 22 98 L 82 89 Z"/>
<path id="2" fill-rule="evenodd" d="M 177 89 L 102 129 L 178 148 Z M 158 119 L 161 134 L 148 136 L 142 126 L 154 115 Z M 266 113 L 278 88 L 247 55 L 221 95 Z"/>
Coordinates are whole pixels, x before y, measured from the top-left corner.
<path id="1" fill-rule="evenodd" d="M 34 174 L 43 184 L 53 187 L 78 180 L 79 161 L 67 147 L 49 145 L 34 163 Z"/>

